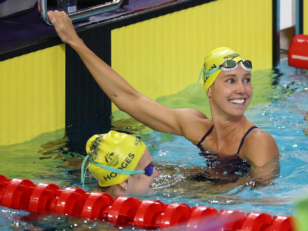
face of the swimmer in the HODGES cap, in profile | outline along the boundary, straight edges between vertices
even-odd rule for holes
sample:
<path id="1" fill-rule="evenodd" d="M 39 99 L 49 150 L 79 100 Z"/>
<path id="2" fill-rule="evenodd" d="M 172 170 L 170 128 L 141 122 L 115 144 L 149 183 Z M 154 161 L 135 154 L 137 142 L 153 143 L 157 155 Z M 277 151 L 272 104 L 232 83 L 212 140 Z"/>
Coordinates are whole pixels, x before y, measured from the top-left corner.
<path id="1" fill-rule="evenodd" d="M 144 170 L 153 161 L 148 148 L 144 150 L 135 170 Z M 148 194 L 154 193 L 152 183 L 155 177 L 159 175 L 156 168 L 153 168 L 153 174 L 147 176 L 144 173 L 130 175 L 128 178 L 127 194 Z"/>

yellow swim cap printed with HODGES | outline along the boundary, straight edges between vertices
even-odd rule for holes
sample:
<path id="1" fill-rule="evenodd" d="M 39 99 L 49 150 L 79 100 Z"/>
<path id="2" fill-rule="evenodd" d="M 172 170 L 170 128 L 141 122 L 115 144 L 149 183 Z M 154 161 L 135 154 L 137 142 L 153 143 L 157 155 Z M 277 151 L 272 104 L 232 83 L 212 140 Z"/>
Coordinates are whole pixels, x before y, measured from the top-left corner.
<path id="1" fill-rule="evenodd" d="M 89 171 L 102 187 L 120 184 L 129 175 L 111 172 L 95 164 L 108 166 L 109 170 L 134 170 L 145 148 L 139 138 L 125 133 L 110 131 L 107 134 L 94 135 L 86 145 L 92 162 Z"/>

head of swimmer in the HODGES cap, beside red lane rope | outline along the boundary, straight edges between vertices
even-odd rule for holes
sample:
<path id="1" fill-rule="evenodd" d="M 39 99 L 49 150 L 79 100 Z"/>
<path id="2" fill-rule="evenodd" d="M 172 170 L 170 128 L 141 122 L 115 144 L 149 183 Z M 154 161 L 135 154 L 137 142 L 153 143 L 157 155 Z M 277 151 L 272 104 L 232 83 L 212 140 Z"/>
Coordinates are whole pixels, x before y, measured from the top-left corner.
<path id="1" fill-rule="evenodd" d="M 110 131 L 92 136 L 86 145 L 89 171 L 98 180 L 97 190 L 111 195 L 154 193 L 153 179 L 159 175 L 145 144 L 137 137 Z M 86 169 L 87 171 L 87 169 Z"/>

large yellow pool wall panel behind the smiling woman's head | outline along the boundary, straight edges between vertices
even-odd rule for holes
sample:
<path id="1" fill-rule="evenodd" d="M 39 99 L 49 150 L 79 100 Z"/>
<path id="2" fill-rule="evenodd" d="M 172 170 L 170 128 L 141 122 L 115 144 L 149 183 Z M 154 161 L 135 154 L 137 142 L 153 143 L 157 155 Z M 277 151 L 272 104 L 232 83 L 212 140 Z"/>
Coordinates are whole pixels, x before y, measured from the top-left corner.
<path id="1" fill-rule="evenodd" d="M 114 29 L 111 66 L 157 99 L 197 83 L 205 56 L 217 47 L 250 59 L 254 71 L 272 68 L 272 1 L 217 0 Z"/>

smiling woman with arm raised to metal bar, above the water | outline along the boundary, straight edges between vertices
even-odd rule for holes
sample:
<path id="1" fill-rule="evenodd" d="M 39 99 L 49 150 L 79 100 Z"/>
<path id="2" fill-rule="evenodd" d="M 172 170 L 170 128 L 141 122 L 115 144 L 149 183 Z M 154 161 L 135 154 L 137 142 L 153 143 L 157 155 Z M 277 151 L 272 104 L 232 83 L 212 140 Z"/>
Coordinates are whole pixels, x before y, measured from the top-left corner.
<path id="1" fill-rule="evenodd" d="M 142 95 L 83 43 L 64 12 L 49 11 L 48 16 L 59 37 L 79 54 L 105 94 L 134 119 L 156 131 L 184 136 L 213 153 L 245 154 L 257 166 L 278 156 L 274 138 L 244 116 L 253 94 L 252 63 L 236 51 L 219 47 L 205 58 L 201 75 L 211 108 L 209 119 L 200 111 L 172 110 Z"/>

